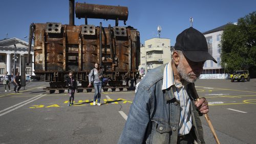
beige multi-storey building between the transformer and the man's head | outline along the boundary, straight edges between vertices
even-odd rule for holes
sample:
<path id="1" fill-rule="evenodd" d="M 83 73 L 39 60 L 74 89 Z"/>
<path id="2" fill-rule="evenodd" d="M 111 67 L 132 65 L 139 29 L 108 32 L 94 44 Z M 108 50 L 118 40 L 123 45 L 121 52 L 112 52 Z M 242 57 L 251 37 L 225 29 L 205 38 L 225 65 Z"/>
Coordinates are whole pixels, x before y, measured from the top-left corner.
<path id="1" fill-rule="evenodd" d="M 145 41 L 140 47 L 140 75 L 170 61 L 170 39 L 152 38 Z"/>

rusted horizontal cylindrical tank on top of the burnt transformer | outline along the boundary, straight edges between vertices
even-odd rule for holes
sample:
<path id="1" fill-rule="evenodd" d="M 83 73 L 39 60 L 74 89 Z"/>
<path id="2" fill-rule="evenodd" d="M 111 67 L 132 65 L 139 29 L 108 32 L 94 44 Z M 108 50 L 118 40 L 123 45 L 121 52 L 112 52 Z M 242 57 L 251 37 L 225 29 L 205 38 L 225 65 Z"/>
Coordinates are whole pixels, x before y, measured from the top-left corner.
<path id="1" fill-rule="evenodd" d="M 76 3 L 76 17 L 127 20 L 128 8 L 121 6 L 106 6 Z"/>

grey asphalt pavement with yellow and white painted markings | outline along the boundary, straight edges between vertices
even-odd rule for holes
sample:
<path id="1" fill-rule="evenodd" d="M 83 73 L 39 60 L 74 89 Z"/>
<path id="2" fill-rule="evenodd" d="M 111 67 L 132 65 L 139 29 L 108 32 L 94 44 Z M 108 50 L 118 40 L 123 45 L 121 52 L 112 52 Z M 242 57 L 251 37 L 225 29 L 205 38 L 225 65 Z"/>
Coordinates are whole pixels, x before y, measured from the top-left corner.
<path id="1" fill-rule="evenodd" d="M 20 93 L 0 85 L 0 143 L 117 143 L 134 99 L 134 91 L 45 94 L 48 82 L 27 82 Z M 13 86 L 11 85 L 11 89 Z M 209 102 L 209 117 L 221 143 L 255 143 L 256 79 L 250 82 L 198 80 L 199 97 Z M 201 117 L 206 143 L 216 143 Z"/>

